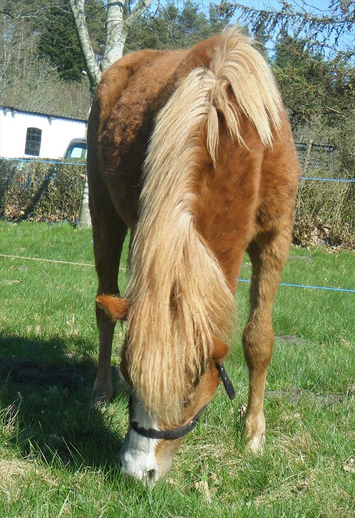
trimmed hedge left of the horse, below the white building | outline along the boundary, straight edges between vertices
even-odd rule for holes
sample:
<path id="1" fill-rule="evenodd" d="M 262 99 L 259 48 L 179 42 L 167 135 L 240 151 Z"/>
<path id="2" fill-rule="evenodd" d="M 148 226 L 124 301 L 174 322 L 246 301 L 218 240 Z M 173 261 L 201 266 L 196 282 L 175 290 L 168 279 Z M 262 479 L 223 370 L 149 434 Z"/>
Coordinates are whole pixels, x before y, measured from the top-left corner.
<path id="1" fill-rule="evenodd" d="M 79 218 L 85 168 L 0 160 L 0 217 L 32 221 Z"/>

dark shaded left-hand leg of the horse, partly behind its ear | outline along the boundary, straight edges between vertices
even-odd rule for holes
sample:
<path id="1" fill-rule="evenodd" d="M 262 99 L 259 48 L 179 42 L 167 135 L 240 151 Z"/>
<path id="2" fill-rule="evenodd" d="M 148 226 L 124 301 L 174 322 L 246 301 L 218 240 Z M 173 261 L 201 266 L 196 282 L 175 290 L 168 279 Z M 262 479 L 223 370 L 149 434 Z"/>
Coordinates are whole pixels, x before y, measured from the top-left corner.
<path id="1" fill-rule="evenodd" d="M 97 193 L 96 193 L 97 194 Z M 94 241 L 95 267 L 98 277 L 97 295 L 119 296 L 118 271 L 127 226 L 117 214 L 108 196 L 97 196 L 97 205 L 91 198 L 91 220 Z M 112 398 L 111 351 L 115 324 L 96 304 L 96 322 L 99 330 L 98 368 L 94 383 L 94 402 Z"/>

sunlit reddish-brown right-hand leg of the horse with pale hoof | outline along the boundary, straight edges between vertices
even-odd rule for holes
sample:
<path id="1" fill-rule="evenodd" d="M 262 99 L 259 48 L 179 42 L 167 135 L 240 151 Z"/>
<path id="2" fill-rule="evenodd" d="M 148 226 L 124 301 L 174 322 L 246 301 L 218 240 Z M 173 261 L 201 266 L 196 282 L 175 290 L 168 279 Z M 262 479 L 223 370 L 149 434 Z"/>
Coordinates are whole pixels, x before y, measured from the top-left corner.
<path id="1" fill-rule="evenodd" d="M 252 264 L 250 315 L 243 333 L 244 356 L 249 370 L 249 397 L 245 416 L 247 448 L 259 451 L 265 442 L 264 391 L 274 332 L 272 307 L 291 243 L 291 223 L 280 231 L 263 232 L 248 247 Z"/>

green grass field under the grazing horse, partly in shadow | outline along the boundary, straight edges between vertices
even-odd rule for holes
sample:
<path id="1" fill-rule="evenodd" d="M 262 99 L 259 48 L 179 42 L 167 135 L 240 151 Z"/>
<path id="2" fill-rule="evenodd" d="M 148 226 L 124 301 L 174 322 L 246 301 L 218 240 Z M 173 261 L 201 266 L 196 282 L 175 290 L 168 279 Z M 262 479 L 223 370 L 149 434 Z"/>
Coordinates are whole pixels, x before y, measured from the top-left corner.
<path id="1" fill-rule="evenodd" d="M 93 262 L 90 231 L 67 224 L 1 222 L 0 236 L 2 254 Z M 354 288 L 354 255 L 293 248 L 282 280 Z M 220 388 L 169 476 L 145 488 L 119 472 L 128 392 L 118 376 L 113 403 L 91 407 L 94 268 L 8 257 L 0 264 L 1 518 L 353 516 L 355 293 L 280 287 L 266 450 L 253 456 L 244 451 L 239 411 L 247 400 L 240 334 L 248 285 L 241 283 L 226 362 L 236 400 Z M 118 326 L 112 365 L 122 336 Z M 288 396 L 291 387 L 306 396 Z"/>

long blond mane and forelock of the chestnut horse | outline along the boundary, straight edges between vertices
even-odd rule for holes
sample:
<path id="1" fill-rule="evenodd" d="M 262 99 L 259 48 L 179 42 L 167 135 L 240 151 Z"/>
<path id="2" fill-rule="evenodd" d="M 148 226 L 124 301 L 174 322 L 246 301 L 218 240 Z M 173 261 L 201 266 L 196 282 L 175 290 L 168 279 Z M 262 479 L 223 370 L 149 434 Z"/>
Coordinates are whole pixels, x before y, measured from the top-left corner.
<path id="1" fill-rule="evenodd" d="M 222 33 L 209 68 L 196 68 L 159 112 L 146 160 L 127 297 L 126 355 L 138 396 L 166 421 L 225 339 L 233 295 L 216 256 L 194 223 L 201 149 L 218 160 L 218 113 L 239 142 L 236 106 L 265 146 L 279 127 L 280 97 L 262 56 L 239 30 Z"/>

